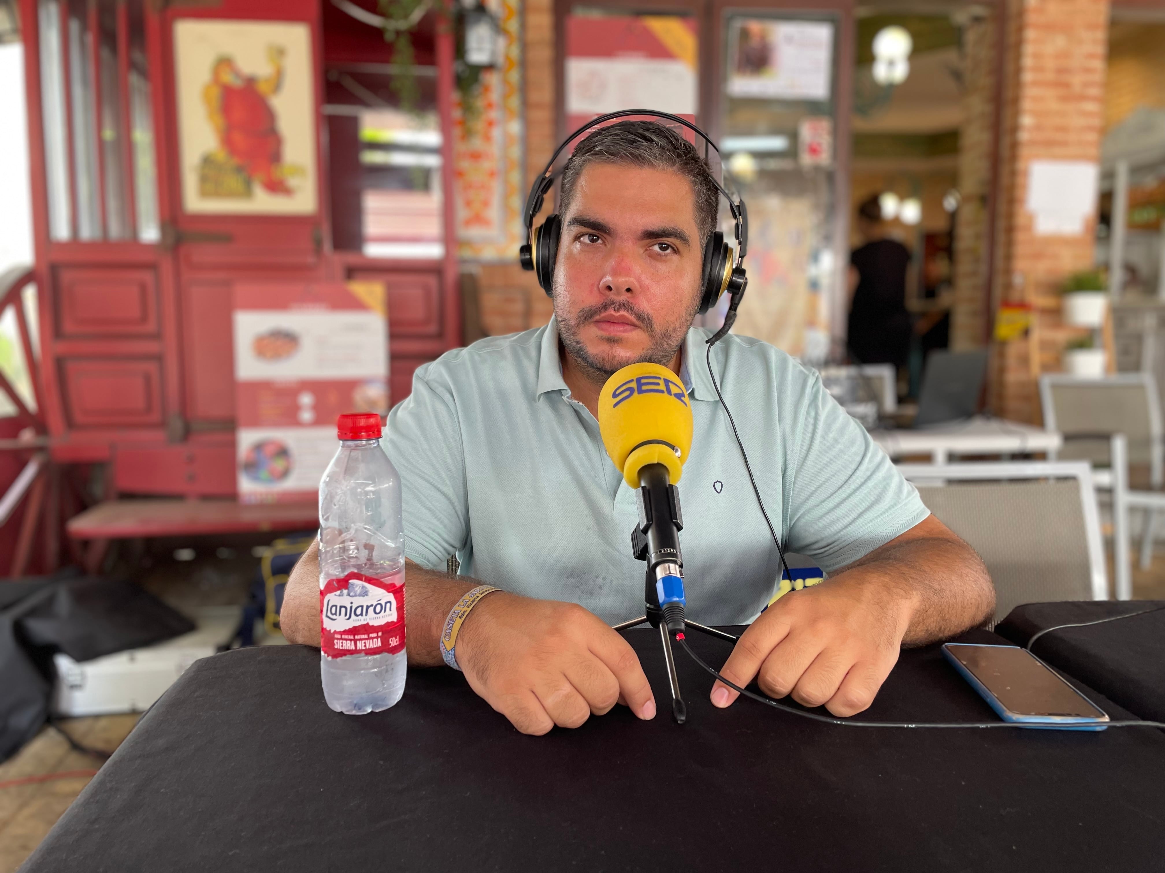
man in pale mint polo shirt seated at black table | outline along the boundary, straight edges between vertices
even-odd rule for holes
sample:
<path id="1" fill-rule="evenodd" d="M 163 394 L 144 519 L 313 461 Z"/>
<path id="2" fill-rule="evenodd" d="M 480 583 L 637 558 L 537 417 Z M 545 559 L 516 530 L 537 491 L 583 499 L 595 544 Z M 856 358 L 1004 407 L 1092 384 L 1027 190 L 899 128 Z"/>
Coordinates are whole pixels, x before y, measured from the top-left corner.
<path id="1" fill-rule="evenodd" d="M 608 626 L 643 612 L 630 555 L 634 495 L 603 452 L 595 419 L 608 375 L 670 367 L 692 399 L 694 436 L 679 483 L 687 613 L 744 623 L 768 602 L 779 559 L 705 365 L 698 308 L 701 241 L 716 221 L 707 164 L 675 132 L 624 121 L 591 134 L 567 163 L 555 317 L 482 340 L 417 370 L 389 416 L 386 450 L 404 494 L 409 663 L 439 665 L 450 609 L 478 583 L 504 589 L 461 626 L 469 686 L 525 733 L 576 728 L 623 703 L 656 702 L 630 646 Z M 712 368 L 757 485 L 790 551 L 829 579 L 785 595 L 736 644 L 723 675 L 840 716 L 866 709 L 917 645 L 981 623 L 994 590 L 975 554 L 788 355 L 729 335 Z M 315 546 L 281 615 L 292 643 L 318 645 Z M 716 683 L 712 702 L 736 693 Z"/>

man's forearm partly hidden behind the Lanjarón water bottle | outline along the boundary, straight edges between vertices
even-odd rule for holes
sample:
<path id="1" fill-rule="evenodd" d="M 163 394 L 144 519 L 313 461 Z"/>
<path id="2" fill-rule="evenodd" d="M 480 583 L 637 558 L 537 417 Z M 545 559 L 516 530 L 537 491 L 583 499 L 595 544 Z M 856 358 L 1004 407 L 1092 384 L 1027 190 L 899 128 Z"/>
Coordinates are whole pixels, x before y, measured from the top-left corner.
<path id="1" fill-rule="evenodd" d="M 404 619 L 409 663 L 443 663 L 437 640 L 449 611 L 479 584 L 465 576 L 450 577 L 405 562 Z M 495 595 L 496 596 L 496 595 Z M 280 611 L 280 627 L 289 643 L 319 646 L 319 551 L 313 542 L 288 576 Z"/>

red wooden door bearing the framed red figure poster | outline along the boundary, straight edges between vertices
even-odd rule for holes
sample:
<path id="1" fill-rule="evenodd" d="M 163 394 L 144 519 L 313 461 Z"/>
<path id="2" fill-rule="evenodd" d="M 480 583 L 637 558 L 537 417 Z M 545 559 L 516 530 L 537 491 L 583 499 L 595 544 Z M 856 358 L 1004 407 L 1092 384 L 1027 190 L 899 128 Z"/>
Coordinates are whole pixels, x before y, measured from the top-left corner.
<path id="1" fill-rule="evenodd" d="M 327 274 L 319 2 L 170 6 L 155 26 L 162 244 L 178 277 L 186 424 L 226 432 L 233 283 Z"/>

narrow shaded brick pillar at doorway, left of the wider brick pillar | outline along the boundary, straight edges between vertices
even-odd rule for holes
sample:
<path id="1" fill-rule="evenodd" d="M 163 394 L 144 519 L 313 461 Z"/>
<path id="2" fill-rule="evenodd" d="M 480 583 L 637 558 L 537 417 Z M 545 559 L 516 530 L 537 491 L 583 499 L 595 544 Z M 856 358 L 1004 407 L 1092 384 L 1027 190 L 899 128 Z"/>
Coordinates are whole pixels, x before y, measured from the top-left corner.
<path id="1" fill-rule="evenodd" d="M 968 21 L 962 31 L 962 127 L 959 130 L 959 192 L 955 217 L 954 304 L 951 347 L 956 352 L 981 348 L 988 301 L 988 210 L 991 182 L 996 104 L 997 13 Z"/>

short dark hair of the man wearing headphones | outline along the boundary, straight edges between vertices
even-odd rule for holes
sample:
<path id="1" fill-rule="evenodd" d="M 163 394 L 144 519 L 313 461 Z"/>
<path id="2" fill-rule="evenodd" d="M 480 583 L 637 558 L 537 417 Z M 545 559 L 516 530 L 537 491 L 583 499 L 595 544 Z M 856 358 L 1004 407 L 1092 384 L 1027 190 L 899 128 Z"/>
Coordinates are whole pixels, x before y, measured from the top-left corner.
<path id="1" fill-rule="evenodd" d="M 720 192 L 712 168 L 692 143 L 670 127 L 655 121 L 617 121 L 589 134 L 574 147 L 574 154 L 563 169 L 558 193 L 559 214 L 565 214 L 570 208 L 582 171 L 596 163 L 678 172 L 692 183 L 700 243 L 716 229 Z"/>

